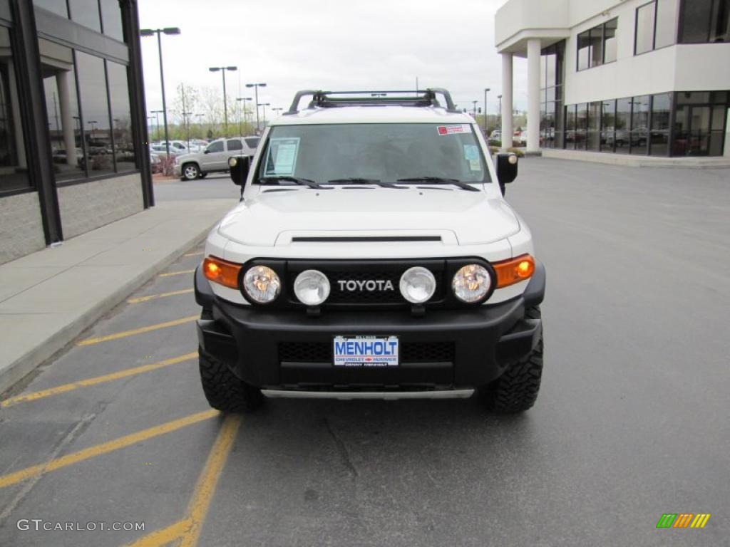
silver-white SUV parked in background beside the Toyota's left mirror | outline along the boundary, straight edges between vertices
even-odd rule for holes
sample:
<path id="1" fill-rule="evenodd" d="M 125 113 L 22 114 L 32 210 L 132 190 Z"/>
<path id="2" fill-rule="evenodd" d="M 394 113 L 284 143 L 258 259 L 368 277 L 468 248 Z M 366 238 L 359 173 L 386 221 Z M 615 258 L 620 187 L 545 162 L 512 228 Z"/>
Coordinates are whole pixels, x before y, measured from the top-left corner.
<path id="1" fill-rule="evenodd" d="M 175 158 L 174 173 L 183 180 L 203 179 L 208 173 L 228 171 L 228 158 L 252 156 L 258 146 L 257 136 L 234 137 L 212 141 L 202 152 Z"/>

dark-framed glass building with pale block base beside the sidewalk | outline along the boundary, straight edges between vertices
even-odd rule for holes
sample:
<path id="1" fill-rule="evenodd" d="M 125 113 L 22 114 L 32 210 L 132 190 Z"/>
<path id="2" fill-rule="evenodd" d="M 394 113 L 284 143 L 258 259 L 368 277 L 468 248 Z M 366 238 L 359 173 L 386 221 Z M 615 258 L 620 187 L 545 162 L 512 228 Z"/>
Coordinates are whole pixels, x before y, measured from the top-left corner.
<path id="1" fill-rule="evenodd" d="M 0 263 L 153 204 L 137 0 L 0 0 Z"/>

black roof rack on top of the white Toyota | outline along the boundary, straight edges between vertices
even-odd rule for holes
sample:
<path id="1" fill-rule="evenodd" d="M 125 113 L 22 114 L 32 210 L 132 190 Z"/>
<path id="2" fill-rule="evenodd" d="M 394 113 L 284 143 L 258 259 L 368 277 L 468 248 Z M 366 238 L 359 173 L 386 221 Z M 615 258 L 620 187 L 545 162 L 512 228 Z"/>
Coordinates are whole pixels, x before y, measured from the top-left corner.
<path id="1" fill-rule="evenodd" d="M 299 112 L 299 101 L 302 97 L 312 96 L 307 108 L 332 108 L 335 106 L 441 106 L 437 99 L 441 95 L 446 103 L 448 112 L 458 112 L 454 106 L 451 94 L 444 88 L 428 88 L 425 90 L 405 91 L 297 91 L 294 100 L 284 115 L 293 115 Z"/>

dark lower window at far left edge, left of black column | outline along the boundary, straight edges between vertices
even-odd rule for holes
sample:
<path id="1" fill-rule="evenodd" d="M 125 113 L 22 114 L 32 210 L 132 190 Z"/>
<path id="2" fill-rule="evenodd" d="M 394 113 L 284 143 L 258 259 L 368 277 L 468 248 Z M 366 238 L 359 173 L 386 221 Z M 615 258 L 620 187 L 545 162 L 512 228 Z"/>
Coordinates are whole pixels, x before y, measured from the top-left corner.
<path id="1" fill-rule="evenodd" d="M 0 195 L 31 186 L 11 38 L 0 26 Z"/>

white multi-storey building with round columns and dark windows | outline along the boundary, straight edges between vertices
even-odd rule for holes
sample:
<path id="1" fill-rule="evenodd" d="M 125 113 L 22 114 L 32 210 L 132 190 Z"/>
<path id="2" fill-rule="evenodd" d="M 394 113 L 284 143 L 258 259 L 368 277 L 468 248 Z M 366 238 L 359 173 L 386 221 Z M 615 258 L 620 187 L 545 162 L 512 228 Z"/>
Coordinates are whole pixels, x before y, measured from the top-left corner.
<path id="1" fill-rule="evenodd" d="M 730 0 L 509 0 L 496 47 L 502 135 L 527 58 L 529 152 L 730 158 Z"/>

